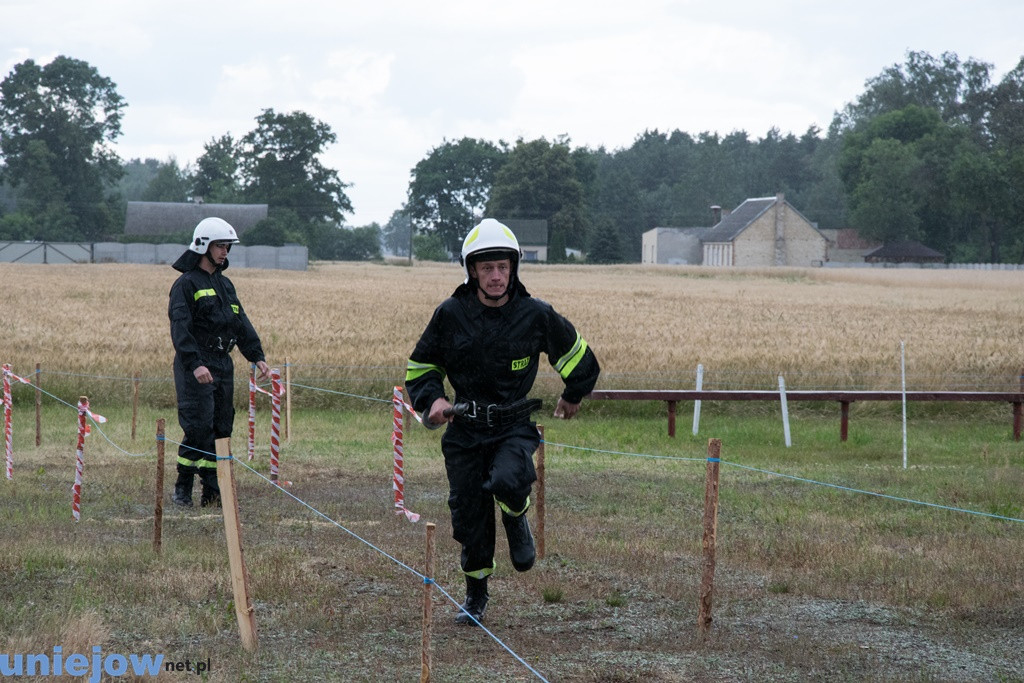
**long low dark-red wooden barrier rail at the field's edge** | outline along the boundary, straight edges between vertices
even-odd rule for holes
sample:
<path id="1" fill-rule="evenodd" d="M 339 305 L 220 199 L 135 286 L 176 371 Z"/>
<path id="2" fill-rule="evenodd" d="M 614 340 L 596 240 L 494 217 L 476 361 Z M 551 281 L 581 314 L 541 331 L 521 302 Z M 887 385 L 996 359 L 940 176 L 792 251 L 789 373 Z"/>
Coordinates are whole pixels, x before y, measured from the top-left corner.
<path id="1" fill-rule="evenodd" d="M 902 391 L 813 390 L 785 392 L 786 400 L 835 400 L 840 410 L 840 439 L 849 433 L 850 403 L 858 400 L 903 400 Z M 780 400 L 778 391 L 689 390 L 689 389 L 599 389 L 587 396 L 591 400 L 664 400 L 669 407 L 669 436 L 676 435 L 676 403 L 681 400 Z M 1012 403 L 1014 440 L 1021 440 L 1024 424 L 1024 390 L 1015 391 L 907 391 L 906 399 L 928 401 L 988 401 Z"/>

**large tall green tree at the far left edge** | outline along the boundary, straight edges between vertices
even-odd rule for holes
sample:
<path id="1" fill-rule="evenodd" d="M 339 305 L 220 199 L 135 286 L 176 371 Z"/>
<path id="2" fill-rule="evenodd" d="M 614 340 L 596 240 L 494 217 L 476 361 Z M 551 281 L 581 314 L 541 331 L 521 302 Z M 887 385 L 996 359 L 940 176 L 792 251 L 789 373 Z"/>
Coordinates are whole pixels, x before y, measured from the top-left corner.
<path id="1" fill-rule="evenodd" d="M 0 83 L 0 168 L 39 239 L 113 232 L 116 204 L 104 188 L 122 174 L 113 150 L 125 101 L 87 62 L 28 59 Z"/>

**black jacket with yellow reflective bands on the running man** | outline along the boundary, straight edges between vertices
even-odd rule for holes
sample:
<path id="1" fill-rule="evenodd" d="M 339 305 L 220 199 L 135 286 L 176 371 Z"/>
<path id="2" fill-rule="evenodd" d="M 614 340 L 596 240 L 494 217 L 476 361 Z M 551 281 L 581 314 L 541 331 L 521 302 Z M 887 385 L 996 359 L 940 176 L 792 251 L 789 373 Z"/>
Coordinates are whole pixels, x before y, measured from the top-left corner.
<path id="1" fill-rule="evenodd" d="M 471 285 L 460 286 L 434 314 L 409 359 L 406 388 L 413 408 L 426 415 L 444 393 L 456 399 L 511 403 L 525 398 L 544 352 L 565 383 L 562 398 L 579 403 L 601 372 L 594 352 L 551 304 L 535 299 L 516 281 L 509 301 L 485 306 Z"/>

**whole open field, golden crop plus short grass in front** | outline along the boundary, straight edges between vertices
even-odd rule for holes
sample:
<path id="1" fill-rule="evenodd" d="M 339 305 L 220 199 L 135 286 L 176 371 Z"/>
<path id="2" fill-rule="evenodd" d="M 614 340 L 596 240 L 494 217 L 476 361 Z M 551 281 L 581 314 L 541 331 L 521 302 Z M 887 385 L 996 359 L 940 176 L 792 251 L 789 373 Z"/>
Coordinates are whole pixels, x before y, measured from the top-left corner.
<path id="1" fill-rule="evenodd" d="M 239 643 L 219 514 L 168 509 L 163 550 L 152 548 L 155 421 L 180 437 L 173 271 L 4 265 L 0 360 L 23 375 L 41 364 L 48 392 L 88 394 L 109 422 L 87 441 L 75 523 L 75 411 L 45 397 L 37 447 L 34 394 L 14 388 L 0 666 L 4 654 L 99 646 L 209 661 L 200 680 L 419 676 L 423 584 L 397 562 L 422 570 L 424 530 L 392 513 L 387 399 L 459 269 L 229 273 L 271 365 L 288 357 L 303 385 L 282 476 L 305 505 L 257 474 L 267 472 L 265 401 L 255 471 L 236 467 L 258 652 Z M 1024 361 L 1018 273 L 535 266 L 524 280 L 581 329 L 605 388 L 689 388 L 697 364 L 706 386 L 764 388 L 754 385 L 783 373 L 791 386 L 893 388 L 900 341 L 908 388 L 1008 390 Z M 126 378 L 136 372 L 132 441 Z M 553 404 L 550 376 L 538 395 Z M 675 439 L 664 405 L 590 402 L 579 420 L 539 419 L 547 557 L 516 574 L 499 531 L 486 625 L 505 647 L 452 624 L 435 591 L 433 680 L 539 679 L 526 664 L 551 681 L 1024 680 L 1024 452 L 1008 407 L 911 404 L 907 469 L 896 404 L 854 404 L 845 443 L 835 407 L 791 404 L 790 449 L 777 404 L 705 402 L 697 436 L 689 408 Z M 722 439 L 725 462 L 715 621 L 701 638 L 709 437 Z M 407 434 L 407 501 L 437 524 L 435 579 L 461 601 L 438 438 Z"/>

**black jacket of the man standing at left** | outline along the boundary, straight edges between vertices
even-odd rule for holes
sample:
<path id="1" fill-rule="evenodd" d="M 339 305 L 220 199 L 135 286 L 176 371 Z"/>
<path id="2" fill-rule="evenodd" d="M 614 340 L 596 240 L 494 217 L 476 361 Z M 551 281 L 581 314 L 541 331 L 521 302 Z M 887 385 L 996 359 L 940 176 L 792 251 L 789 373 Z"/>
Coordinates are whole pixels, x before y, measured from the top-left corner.
<path id="1" fill-rule="evenodd" d="M 205 365 L 204 356 L 228 352 L 232 341 L 250 362 L 264 360 L 263 346 L 234 286 L 221 274 L 227 261 L 211 274 L 199 267 L 200 258 L 200 254 L 186 251 L 173 266 L 182 274 L 171 286 L 167 315 L 171 342 L 181 365 L 194 372 Z"/>

